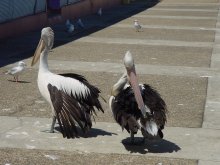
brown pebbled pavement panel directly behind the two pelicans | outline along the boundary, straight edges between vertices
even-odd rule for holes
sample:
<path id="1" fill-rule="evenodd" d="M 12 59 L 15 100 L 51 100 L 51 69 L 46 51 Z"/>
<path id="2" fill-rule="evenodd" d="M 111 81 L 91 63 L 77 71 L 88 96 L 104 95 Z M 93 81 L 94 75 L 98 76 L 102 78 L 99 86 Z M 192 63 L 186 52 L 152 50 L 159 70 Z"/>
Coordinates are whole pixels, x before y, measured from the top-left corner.
<path id="1" fill-rule="evenodd" d="M 117 82 L 118 77 L 120 77 L 124 71 L 124 69 L 121 68 L 119 72 L 114 72 L 114 70 L 113 72 L 109 72 L 110 70 L 107 71 L 107 68 L 105 68 L 106 65 L 103 64 L 103 67 L 101 67 L 95 65 L 97 63 L 94 63 L 94 65 L 96 68 L 99 68 L 99 71 L 87 68 L 89 65 L 85 65 L 83 71 L 82 63 L 80 65 L 81 67 L 77 67 L 74 63 L 70 64 L 65 61 L 63 61 L 62 65 L 57 65 L 60 64 L 60 62 L 61 61 L 49 61 L 50 68 L 53 72 L 74 72 L 84 75 L 89 82 L 100 88 L 102 92 L 101 95 L 106 100 L 110 97 L 112 84 Z M 71 68 L 71 65 L 77 69 Z M 64 66 L 67 66 L 66 69 L 68 70 L 65 70 Z M 101 68 L 105 68 L 106 70 L 102 71 Z M 207 77 L 194 77 L 195 75 L 190 76 L 187 74 L 171 74 L 168 76 L 168 73 L 160 74 L 160 70 L 157 68 L 142 68 L 141 72 L 139 68 L 140 67 L 137 68 L 137 71 L 143 73 L 138 75 L 139 81 L 148 83 L 157 89 L 167 103 L 169 110 L 168 126 L 201 127 L 206 99 Z M 90 72 L 88 72 L 88 70 L 90 70 Z M 147 74 L 143 72 L 145 70 L 148 70 Z M 157 75 L 154 72 L 151 73 L 149 72 L 150 70 L 158 70 L 159 74 Z M 192 71 L 193 69 L 189 70 L 189 72 Z M 111 79 L 109 77 L 111 77 Z M 12 77 L 7 76 L 5 79 L 6 78 L 10 80 Z M 35 70 L 35 68 L 28 68 L 26 72 L 20 76 L 20 80 L 23 81 L 23 83 L 15 84 L 5 79 L 0 80 L 2 86 L 8 87 L 1 89 L 2 92 L 0 93 L 0 97 L 2 99 L 0 100 L 0 115 L 51 117 L 51 108 L 40 96 L 38 91 L 36 82 L 37 70 Z M 102 101 L 102 105 L 105 109 L 105 113 L 98 113 L 96 121 L 114 122 L 108 104 Z M 181 115 L 178 115 L 179 113 L 181 113 Z"/>

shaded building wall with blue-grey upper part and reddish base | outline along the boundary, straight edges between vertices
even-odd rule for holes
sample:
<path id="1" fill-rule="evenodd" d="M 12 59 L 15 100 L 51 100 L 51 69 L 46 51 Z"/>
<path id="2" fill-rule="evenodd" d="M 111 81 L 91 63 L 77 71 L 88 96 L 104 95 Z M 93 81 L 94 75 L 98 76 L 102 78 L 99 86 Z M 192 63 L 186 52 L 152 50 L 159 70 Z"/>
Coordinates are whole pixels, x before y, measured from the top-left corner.
<path id="1" fill-rule="evenodd" d="M 0 39 L 119 5 L 121 0 L 0 0 Z"/>

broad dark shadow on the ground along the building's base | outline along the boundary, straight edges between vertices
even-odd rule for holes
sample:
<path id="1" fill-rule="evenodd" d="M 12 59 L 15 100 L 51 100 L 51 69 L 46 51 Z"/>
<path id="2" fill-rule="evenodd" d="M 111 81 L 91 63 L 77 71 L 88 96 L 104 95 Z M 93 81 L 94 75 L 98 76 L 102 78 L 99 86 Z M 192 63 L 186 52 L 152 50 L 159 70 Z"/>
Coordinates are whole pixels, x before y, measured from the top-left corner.
<path id="1" fill-rule="evenodd" d="M 81 19 L 86 28 L 83 30 L 76 29 L 76 32 L 71 35 L 65 31 L 65 23 L 51 26 L 55 32 L 54 47 L 88 36 L 89 34 L 151 8 L 159 2 L 160 0 L 137 0 L 131 4 L 119 5 L 104 10 L 101 17 L 97 14 L 83 17 Z M 41 29 L 22 34 L 21 36 L 0 40 L 0 67 L 33 56 L 34 50 L 40 39 L 40 33 Z"/>

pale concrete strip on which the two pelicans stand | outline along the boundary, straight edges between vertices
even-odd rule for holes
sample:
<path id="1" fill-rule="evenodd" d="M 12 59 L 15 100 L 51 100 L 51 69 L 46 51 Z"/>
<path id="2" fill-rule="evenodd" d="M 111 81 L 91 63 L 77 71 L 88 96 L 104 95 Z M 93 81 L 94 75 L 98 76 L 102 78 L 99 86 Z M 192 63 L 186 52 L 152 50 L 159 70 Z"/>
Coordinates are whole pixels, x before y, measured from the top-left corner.
<path id="1" fill-rule="evenodd" d="M 96 146 L 96 153 L 220 161 L 218 156 L 220 134 L 212 129 L 204 131 L 201 128 L 167 127 L 164 131 L 165 138 L 161 142 L 129 146 L 122 143 L 129 140 L 128 133 L 121 132 L 117 124 L 97 122 L 88 138 L 68 140 L 63 139 L 60 133 L 49 134 L 40 131 L 50 127 L 50 119 L 31 117 L 0 117 L 0 119 L 3 123 L 0 126 L 0 147 L 94 152 Z M 206 154 L 207 152 L 209 154 Z"/>

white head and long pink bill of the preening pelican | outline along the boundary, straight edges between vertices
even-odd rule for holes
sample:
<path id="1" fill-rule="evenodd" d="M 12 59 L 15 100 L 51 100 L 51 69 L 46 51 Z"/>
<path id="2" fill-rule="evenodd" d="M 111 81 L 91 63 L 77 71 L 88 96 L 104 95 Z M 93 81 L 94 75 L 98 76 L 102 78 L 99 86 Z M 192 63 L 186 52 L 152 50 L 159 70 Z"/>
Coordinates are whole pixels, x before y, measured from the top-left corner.
<path id="1" fill-rule="evenodd" d="M 134 96 L 137 101 L 138 108 L 141 110 L 142 115 L 146 117 L 147 114 L 146 114 L 144 101 L 141 95 L 141 91 L 140 91 L 140 87 L 139 87 L 139 83 L 138 83 L 138 79 L 137 79 L 137 75 L 135 71 L 134 60 L 129 51 L 125 54 L 124 65 L 127 70 L 127 75 L 128 75 L 128 79 L 130 81 L 131 87 L 133 88 L 133 91 L 134 91 Z"/>

